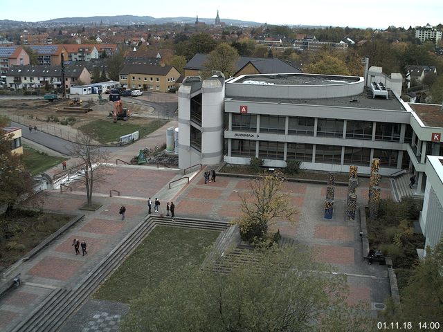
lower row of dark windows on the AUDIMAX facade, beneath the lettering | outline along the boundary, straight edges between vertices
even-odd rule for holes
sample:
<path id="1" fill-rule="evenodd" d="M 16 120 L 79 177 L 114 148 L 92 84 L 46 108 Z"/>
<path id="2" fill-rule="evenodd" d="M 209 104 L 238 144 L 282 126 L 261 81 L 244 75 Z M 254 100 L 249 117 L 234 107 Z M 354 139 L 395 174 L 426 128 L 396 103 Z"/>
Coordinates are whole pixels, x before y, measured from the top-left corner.
<path id="1" fill-rule="evenodd" d="M 284 160 L 284 142 L 258 142 L 258 157 Z M 254 157 L 255 140 L 231 140 L 231 156 Z M 342 147 L 336 145 L 316 145 L 315 158 L 312 160 L 314 145 L 287 143 L 287 160 L 314 163 L 341 164 Z M 343 163 L 345 165 L 370 165 L 371 149 L 364 147 L 345 147 Z M 373 158 L 379 158 L 384 167 L 397 167 L 399 151 L 374 149 Z"/>

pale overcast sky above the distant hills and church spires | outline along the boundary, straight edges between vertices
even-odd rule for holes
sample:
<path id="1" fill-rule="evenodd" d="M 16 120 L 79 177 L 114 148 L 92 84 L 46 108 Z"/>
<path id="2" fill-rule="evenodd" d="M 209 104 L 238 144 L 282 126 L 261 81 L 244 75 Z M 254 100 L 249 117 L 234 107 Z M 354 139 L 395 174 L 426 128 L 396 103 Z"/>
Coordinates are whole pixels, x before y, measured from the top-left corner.
<path id="1" fill-rule="evenodd" d="M 278 25 L 435 26 L 443 23 L 443 0 L 166 0 L 1 1 L 0 19 L 45 21 L 60 17 L 137 15 L 242 19 Z"/>

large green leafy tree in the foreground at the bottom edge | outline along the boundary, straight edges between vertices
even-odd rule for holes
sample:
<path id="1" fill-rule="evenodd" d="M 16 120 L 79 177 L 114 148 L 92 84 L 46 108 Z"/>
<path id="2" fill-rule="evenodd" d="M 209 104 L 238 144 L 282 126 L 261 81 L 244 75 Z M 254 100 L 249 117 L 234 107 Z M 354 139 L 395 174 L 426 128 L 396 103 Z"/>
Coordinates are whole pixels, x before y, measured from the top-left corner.
<path id="1" fill-rule="evenodd" d="M 345 303 L 345 277 L 325 270 L 307 248 L 275 246 L 246 252 L 226 275 L 190 266 L 142 291 L 121 329 L 371 331 L 374 322 Z"/>

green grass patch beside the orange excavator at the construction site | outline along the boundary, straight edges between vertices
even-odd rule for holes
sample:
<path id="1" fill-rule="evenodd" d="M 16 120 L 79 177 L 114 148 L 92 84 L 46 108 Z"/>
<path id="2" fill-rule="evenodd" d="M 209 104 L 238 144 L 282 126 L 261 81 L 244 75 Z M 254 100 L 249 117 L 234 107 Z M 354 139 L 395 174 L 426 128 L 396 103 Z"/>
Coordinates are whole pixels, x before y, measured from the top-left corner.
<path id="1" fill-rule="evenodd" d="M 138 120 L 139 122 L 139 120 Z M 84 132 L 93 131 L 96 133 L 97 140 L 100 143 L 118 142 L 120 136 L 127 135 L 128 133 L 134 133 L 138 130 L 138 136 L 140 138 L 149 135 L 156 129 L 159 129 L 166 123 L 164 120 L 145 120 L 143 124 L 134 124 L 129 119 L 128 121 L 118 121 L 117 123 L 109 120 L 96 120 L 84 124 L 79 129 Z"/>

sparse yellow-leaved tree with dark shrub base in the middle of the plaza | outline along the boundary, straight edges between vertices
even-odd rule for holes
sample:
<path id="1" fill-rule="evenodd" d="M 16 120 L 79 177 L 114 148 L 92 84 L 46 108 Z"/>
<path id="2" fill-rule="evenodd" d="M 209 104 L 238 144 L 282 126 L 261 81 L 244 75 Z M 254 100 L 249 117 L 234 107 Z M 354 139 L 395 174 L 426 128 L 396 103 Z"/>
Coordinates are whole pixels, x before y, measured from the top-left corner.
<path id="1" fill-rule="evenodd" d="M 279 172 L 262 174 L 251 181 L 251 193 L 240 195 L 243 215 L 233 223 L 238 225 L 242 239 L 260 243 L 266 239 L 269 226 L 276 218 L 293 221 L 298 211 L 282 194 L 283 183 Z"/>

